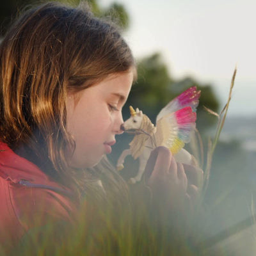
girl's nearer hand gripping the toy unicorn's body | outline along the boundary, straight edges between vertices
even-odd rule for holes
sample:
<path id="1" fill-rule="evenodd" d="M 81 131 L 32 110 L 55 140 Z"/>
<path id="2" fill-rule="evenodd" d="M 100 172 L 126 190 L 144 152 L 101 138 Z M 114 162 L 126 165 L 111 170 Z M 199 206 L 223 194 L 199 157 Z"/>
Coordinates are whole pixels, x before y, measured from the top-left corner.
<path id="1" fill-rule="evenodd" d="M 145 178 L 158 209 L 168 213 L 184 208 L 188 179 L 183 165 L 175 161 L 168 148 L 152 150 L 145 168 Z"/>

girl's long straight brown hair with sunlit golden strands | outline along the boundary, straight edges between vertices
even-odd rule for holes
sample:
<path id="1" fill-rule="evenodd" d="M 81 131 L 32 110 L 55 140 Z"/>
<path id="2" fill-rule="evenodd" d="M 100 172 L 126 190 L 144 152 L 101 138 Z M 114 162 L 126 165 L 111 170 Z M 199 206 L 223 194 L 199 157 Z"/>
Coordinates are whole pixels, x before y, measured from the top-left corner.
<path id="1" fill-rule="evenodd" d="M 85 8 L 47 3 L 29 10 L 0 45 L 0 140 L 51 177 L 70 175 L 67 92 L 131 67 L 118 29 Z"/>

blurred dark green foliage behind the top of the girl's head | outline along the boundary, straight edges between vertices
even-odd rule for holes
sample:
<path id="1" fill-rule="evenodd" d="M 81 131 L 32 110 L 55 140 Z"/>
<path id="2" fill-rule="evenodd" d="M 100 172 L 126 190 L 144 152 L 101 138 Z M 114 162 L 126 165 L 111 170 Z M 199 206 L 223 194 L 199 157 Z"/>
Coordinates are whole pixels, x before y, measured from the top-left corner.
<path id="1" fill-rule="evenodd" d="M 52 0 L 56 1 L 56 0 Z M 47 0 L 9 0 L 1 1 L 0 3 L 0 36 L 6 33 L 12 21 L 19 15 L 21 10 L 28 5 L 40 4 L 47 2 Z M 102 8 L 97 0 L 58 0 L 58 2 L 68 3 L 72 6 L 88 3 L 92 12 L 98 17 L 109 17 L 121 28 L 127 29 L 129 27 L 129 15 L 122 4 L 112 3 L 107 8 Z"/>

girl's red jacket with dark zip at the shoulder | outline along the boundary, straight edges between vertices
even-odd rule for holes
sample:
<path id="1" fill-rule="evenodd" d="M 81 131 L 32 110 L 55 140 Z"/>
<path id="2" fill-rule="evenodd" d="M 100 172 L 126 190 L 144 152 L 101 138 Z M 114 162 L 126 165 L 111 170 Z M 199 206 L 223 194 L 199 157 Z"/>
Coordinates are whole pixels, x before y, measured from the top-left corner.
<path id="1" fill-rule="evenodd" d="M 29 228 L 72 220 L 70 191 L 0 142 L 0 245 L 15 245 Z"/>

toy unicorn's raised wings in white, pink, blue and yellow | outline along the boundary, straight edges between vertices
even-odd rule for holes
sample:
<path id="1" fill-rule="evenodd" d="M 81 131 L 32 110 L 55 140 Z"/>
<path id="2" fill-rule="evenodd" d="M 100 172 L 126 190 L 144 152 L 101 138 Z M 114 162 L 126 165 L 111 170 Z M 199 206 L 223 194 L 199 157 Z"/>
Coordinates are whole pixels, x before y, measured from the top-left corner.
<path id="1" fill-rule="evenodd" d="M 170 148 L 173 154 L 179 152 L 190 140 L 195 129 L 196 107 L 200 91 L 193 86 L 181 93 L 157 115 L 156 145 Z"/>

